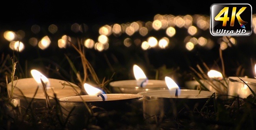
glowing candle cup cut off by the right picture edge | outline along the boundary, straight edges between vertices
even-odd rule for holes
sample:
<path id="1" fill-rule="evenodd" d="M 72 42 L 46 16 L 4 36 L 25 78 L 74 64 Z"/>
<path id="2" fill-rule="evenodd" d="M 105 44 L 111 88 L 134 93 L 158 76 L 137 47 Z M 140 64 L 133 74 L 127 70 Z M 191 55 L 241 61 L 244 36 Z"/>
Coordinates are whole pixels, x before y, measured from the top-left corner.
<path id="1" fill-rule="evenodd" d="M 254 78 L 242 78 L 249 87 L 256 92 L 256 79 Z M 230 96 L 239 96 L 242 98 L 248 97 L 250 94 L 253 94 L 248 86 L 241 81 L 238 77 L 229 77 L 228 78 L 228 92 L 227 94 Z"/>

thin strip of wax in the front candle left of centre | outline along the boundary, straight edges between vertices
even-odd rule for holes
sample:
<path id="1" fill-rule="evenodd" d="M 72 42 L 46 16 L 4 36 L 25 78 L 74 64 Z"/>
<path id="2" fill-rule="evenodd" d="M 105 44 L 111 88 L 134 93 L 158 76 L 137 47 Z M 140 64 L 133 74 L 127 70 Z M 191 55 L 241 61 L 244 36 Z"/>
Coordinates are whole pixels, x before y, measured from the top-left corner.
<path id="1" fill-rule="evenodd" d="M 118 100 L 125 100 L 125 99 L 135 99 L 141 98 L 142 95 L 139 94 L 103 94 L 106 97 L 105 101 L 118 101 Z M 59 99 L 59 101 L 63 102 L 82 102 L 83 101 L 102 101 L 102 97 L 97 97 L 97 95 L 82 95 L 82 96 L 73 96 L 73 97 L 65 97 Z"/>

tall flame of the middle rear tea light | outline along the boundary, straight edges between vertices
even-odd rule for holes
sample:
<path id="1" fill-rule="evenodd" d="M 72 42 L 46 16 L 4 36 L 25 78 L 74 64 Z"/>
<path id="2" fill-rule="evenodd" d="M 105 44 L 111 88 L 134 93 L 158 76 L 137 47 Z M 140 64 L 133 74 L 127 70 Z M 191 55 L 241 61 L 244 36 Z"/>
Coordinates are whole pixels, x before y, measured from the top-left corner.
<path id="1" fill-rule="evenodd" d="M 148 78 L 138 65 L 133 65 L 133 73 L 139 87 L 144 87 L 148 84 Z"/>

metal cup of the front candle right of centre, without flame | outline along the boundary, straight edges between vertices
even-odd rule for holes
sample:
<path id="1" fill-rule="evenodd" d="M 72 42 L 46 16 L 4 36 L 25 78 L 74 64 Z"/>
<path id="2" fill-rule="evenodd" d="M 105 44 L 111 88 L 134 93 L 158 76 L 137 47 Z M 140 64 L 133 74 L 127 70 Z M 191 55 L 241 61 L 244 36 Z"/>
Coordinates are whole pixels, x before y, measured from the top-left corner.
<path id="1" fill-rule="evenodd" d="M 213 94 L 210 91 L 185 90 L 181 89 L 181 94 L 175 97 L 176 90 L 156 90 L 145 91 L 138 94 L 143 95 L 144 119 L 154 123 L 156 118 L 163 119 L 164 115 L 172 111 L 174 114 L 180 110 L 200 110 Z"/>

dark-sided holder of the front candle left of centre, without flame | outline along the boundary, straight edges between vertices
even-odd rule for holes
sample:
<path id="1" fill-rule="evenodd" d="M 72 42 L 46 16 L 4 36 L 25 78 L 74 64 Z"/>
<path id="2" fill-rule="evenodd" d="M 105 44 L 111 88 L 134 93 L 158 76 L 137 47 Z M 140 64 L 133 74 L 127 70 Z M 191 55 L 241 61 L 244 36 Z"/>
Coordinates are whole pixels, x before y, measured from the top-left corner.
<path id="1" fill-rule="evenodd" d="M 116 111 L 118 113 L 131 112 L 133 109 L 141 110 L 141 115 L 136 115 L 141 117 L 142 115 L 142 104 L 143 104 L 143 95 L 139 94 L 103 94 L 104 97 L 107 97 L 105 101 L 102 101 L 102 97 L 97 95 L 82 95 L 82 96 L 73 96 L 73 97 L 64 97 L 59 99 L 59 103 L 62 106 L 62 111 L 65 117 L 69 115 L 69 112 L 72 111 L 72 116 L 69 117 L 69 121 L 72 124 L 72 128 L 81 129 L 85 122 L 85 116 L 87 108 L 83 101 L 88 105 L 95 107 L 100 107 L 106 111 Z M 82 99 L 83 100 L 82 100 Z M 100 110 L 102 110 L 100 109 Z M 94 110 L 94 112 L 97 112 Z M 121 119 L 117 119 L 121 120 Z"/>

